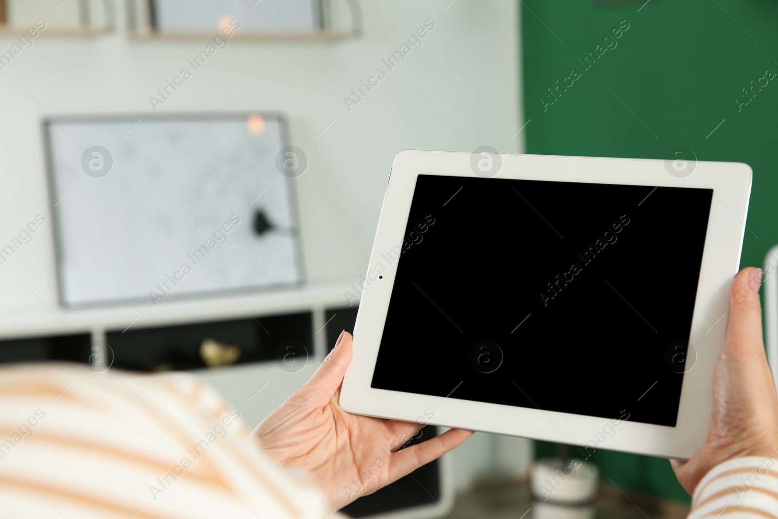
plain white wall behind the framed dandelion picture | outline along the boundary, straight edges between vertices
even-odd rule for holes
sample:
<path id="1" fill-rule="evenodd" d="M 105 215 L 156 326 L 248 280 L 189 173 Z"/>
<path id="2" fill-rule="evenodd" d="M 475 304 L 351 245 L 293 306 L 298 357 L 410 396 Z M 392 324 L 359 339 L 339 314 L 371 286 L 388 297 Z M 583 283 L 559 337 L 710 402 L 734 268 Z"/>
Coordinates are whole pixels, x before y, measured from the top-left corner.
<path id="1" fill-rule="evenodd" d="M 47 113 L 142 117 L 151 110 L 149 96 L 205 46 L 205 38 L 129 41 L 124 2 L 118 3 L 117 33 L 56 37 L 44 31 L 0 70 L 0 247 L 38 213 L 48 219 L 32 243 L 0 265 L 0 312 L 46 314 L 43 303 L 57 307 L 40 120 Z M 231 40 L 159 107 L 159 113 L 232 111 L 235 103 L 240 110 L 288 114 L 292 143 L 310 160 L 307 173 L 296 180 L 310 281 L 356 281 L 364 272 L 399 150 L 471 152 L 489 145 L 504 153 L 523 151 L 523 133 L 513 137 L 524 124 L 516 2 L 368 0 L 363 11 L 364 39 Z M 48 14 L 39 17 L 45 21 Z M 435 28 L 422 47 L 349 111 L 344 96 L 377 67 L 386 69 L 381 59 L 427 19 Z M 0 53 L 14 41 L 0 37 Z M 463 465 L 480 463 L 486 470 L 503 458 L 494 454 L 495 441 L 476 437 L 468 443 L 479 447 L 457 455 Z M 516 463 L 525 466 L 527 442 L 517 445 L 509 450 L 520 453 Z M 462 477 L 469 481 L 469 475 Z"/>

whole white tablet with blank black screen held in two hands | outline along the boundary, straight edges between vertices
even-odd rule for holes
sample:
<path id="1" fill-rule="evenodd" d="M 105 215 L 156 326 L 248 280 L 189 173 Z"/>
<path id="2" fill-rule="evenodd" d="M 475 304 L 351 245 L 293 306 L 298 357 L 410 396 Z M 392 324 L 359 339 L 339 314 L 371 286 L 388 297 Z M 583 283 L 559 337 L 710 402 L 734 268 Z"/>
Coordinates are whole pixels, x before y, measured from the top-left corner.
<path id="1" fill-rule="evenodd" d="M 741 163 L 398 153 L 342 407 L 691 457 L 751 178 Z"/>

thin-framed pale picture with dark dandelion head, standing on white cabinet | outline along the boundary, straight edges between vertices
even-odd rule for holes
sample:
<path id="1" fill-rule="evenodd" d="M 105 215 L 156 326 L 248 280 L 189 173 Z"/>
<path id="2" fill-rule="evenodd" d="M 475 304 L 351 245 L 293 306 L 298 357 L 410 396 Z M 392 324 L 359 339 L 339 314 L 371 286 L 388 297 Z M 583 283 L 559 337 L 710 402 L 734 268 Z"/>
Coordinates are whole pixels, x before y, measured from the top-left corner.
<path id="1" fill-rule="evenodd" d="M 63 305 L 302 282 L 281 115 L 57 117 L 44 133 Z"/>

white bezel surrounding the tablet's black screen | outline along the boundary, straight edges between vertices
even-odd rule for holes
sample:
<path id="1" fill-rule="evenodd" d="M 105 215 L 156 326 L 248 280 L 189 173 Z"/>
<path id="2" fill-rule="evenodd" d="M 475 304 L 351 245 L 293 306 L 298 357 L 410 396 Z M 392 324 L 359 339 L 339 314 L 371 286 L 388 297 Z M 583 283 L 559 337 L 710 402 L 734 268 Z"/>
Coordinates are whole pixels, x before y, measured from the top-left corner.
<path id="1" fill-rule="evenodd" d="M 476 177 L 471 169 L 471 155 L 405 150 L 394 157 L 359 304 L 352 362 L 340 394 L 342 408 L 362 415 L 408 421 L 426 416 L 428 423 L 438 426 L 588 446 L 588 453 L 605 448 L 690 458 L 704 444 L 710 421 L 713 400 L 710 384 L 724 342 L 727 294 L 740 262 L 751 168 L 743 163 L 696 162 L 692 174 L 676 177 L 669 173 L 664 160 L 501 155 L 502 166 L 492 177 L 713 190 L 690 335 L 696 363 L 684 374 L 678 423 L 669 427 L 618 420 L 617 416 L 605 419 L 460 400 L 455 394 L 441 398 L 370 387 L 398 264 L 394 261 L 386 265 L 382 254 L 403 243 L 416 177 L 419 174 Z M 387 267 L 381 269 L 381 279 L 377 272 L 379 264 Z M 668 280 L 668 289 L 671 286 L 672 281 Z M 691 360 L 692 355 L 688 358 Z M 605 429 L 608 431 L 605 434 L 603 430 L 608 424 L 610 428 Z M 612 435 L 611 430 L 615 430 Z"/>

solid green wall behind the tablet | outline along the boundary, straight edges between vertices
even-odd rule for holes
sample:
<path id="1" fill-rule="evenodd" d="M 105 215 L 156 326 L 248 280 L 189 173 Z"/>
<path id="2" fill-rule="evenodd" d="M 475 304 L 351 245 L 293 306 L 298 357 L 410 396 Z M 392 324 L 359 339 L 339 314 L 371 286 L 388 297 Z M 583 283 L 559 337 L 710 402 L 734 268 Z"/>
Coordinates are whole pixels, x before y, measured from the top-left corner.
<path id="1" fill-rule="evenodd" d="M 778 244 L 778 77 L 761 79 L 778 72 L 778 3 L 520 5 L 527 153 L 666 159 L 684 146 L 698 160 L 748 163 L 754 184 L 741 265 L 762 265 Z M 629 29 L 606 42 L 625 20 Z M 590 53 L 598 58 L 586 68 Z M 566 79 L 573 69 L 580 77 Z M 743 93 L 765 81 L 752 98 Z M 538 442 L 536 450 L 554 447 Z M 607 451 L 593 458 L 617 484 L 689 501 L 667 460 Z"/>

